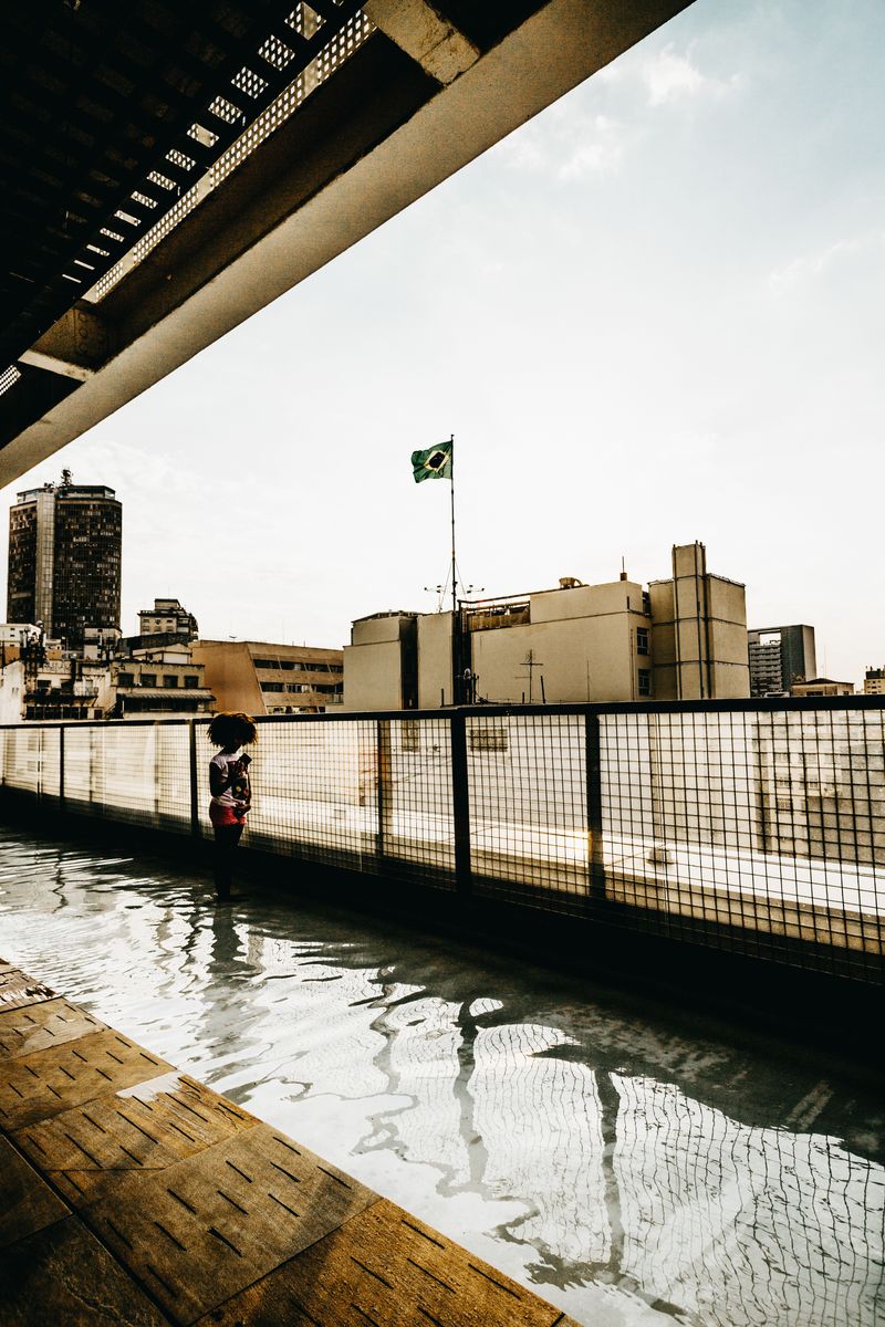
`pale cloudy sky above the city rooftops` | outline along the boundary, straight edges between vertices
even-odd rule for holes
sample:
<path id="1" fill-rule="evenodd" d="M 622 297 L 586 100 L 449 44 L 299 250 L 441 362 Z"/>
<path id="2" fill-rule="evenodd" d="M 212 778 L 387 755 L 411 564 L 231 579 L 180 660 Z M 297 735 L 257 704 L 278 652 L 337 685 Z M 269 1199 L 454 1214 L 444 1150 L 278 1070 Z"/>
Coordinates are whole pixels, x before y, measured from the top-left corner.
<path id="1" fill-rule="evenodd" d="M 341 646 L 474 593 L 666 577 L 674 543 L 885 664 L 885 5 L 697 0 L 0 494 L 123 503 L 123 632 Z M 5 573 L 5 568 L 4 568 Z M 425 587 L 431 587 L 426 591 Z M 3 587 L 5 602 L 5 585 Z"/>

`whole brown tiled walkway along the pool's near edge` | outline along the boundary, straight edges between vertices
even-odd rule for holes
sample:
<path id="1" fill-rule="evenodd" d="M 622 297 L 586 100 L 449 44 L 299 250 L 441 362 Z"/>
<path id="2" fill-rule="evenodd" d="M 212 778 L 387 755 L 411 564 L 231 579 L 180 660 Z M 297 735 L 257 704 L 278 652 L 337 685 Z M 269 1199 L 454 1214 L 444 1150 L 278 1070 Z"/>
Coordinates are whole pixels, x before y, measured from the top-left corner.
<path id="1" fill-rule="evenodd" d="M 0 961 L 4 1327 L 577 1327 Z"/>

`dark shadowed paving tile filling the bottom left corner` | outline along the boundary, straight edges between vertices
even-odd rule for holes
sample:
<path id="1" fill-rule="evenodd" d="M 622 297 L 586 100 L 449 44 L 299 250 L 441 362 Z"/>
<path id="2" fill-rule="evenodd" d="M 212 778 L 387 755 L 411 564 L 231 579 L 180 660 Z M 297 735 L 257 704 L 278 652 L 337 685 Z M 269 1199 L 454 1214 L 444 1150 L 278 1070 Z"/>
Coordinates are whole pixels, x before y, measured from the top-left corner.
<path id="1" fill-rule="evenodd" d="M 169 1320 L 77 1217 L 0 1258 L 3 1327 L 169 1327 Z"/>

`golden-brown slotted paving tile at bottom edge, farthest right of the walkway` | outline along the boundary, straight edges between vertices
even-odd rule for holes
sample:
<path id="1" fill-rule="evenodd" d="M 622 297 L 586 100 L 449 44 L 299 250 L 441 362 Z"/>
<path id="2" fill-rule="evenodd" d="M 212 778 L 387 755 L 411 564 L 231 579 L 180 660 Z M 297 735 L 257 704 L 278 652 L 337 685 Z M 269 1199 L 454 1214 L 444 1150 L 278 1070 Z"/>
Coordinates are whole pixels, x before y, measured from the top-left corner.
<path id="1" fill-rule="evenodd" d="M 207 1315 L 199 1327 L 244 1323 L 568 1327 L 571 1319 L 382 1198 Z"/>

